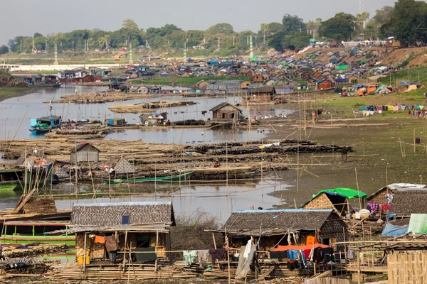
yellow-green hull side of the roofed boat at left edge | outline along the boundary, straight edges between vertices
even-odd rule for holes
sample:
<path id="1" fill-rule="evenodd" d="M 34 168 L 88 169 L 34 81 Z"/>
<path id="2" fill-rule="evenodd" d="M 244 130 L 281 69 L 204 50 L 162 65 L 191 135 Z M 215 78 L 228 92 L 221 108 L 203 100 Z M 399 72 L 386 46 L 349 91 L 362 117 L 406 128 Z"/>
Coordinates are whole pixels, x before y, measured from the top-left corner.
<path id="1" fill-rule="evenodd" d="M 75 236 L 13 236 L 3 235 L 0 237 L 1 244 L 67 244 L 75 245 Z"/>

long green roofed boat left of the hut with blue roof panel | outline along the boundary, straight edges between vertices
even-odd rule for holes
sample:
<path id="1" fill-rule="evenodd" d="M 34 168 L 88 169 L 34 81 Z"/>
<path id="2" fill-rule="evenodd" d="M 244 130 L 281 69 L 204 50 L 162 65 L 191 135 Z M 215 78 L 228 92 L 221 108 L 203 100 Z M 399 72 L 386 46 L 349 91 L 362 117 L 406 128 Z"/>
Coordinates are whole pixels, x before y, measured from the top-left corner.
<path id="1" fill-rule="evenodd" d="M 67 221 L 6 221 L 3 224 L 1 244 L 68 244 L 75 245 L 75 234 L 59 236 L 46 233 L 68 229 Z"/>

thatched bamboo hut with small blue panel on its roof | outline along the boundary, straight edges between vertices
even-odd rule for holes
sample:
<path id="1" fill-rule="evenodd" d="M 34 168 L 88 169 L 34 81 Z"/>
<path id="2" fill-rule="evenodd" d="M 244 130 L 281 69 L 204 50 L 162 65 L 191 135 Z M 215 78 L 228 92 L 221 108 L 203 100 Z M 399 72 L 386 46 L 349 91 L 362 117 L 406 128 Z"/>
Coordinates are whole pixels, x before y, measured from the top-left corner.
<path id="1" fill-rule="evenodd" d="M 76 234 L 76 257 L 83 256 L 86 249 L 90 258 L 106 258 L 105 244 L 97 240 L 114 235 L 119 256 L 123 249 L 132 249 L 136 252 L 132 257 L 141 261 L 139 258 L 166 256 L 171 246 L 169 229 L 174 225 L 172 202 L 75 204 L 68 232 Z"/>

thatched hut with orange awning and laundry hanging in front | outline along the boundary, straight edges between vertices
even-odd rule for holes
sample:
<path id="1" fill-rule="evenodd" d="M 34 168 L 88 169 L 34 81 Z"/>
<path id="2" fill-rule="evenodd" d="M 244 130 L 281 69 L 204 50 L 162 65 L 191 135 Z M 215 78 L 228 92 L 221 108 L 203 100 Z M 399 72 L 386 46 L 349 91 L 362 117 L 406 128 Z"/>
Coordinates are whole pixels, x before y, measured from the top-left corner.
<path id="1" fill-rule="evenodd" d="M 334 246 L 344 241 L 347 224 L 332 209 L 274 209 L 235 211 L 221 228 L 232 248 L 240 248 L 252 238 L 260 238 L 260 250 L 275 245 L 305 244 L 307 236 L 317 236 L 320 244 Z M 288 238 L 290 235 L 290 238 Z M 335 248 L 336 249 L 336 248 Z"/>

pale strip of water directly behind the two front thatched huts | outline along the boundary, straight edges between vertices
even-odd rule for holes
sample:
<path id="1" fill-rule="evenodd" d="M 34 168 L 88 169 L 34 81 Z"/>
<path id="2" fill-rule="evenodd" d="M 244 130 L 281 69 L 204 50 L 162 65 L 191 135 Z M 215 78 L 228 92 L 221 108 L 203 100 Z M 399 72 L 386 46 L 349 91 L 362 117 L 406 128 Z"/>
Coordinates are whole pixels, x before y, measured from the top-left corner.
<path id="1" fill-rule="evenodd" d="M 131 185 L 132 187 L 132 185 Z M 235 210 L 255 208 L 272 208 L 280 205 L 280 199 L 269 195 L 278 190 L 288 190 L 285 185 L 277 180 L 265 180 L 258 184 L 247 183 L 245 185 L 194 185 L 184 186 L 174 195 L 163 195 L 162 197 L 114 197 L 97 198 L 94 200 L 57 200 L 58 209 L 71 209 L 76 203 L 100 203 L 100 202 L 137 202 L 137 201 L 172 201 L 176 215 L 193 214 L 197 210 L 209 212 L 225 222 L 231 212 Z M 154 195 L 154 194 L 153 194 Z"/>

